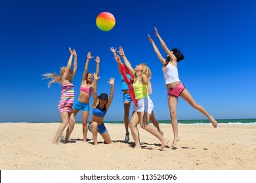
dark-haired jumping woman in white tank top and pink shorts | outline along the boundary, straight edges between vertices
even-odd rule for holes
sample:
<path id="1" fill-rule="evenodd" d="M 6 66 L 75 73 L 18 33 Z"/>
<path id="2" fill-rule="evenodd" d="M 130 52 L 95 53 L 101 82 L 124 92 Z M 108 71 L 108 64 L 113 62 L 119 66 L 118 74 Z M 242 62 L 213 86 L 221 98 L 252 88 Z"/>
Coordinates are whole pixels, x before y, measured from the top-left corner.
<path id="1" fill-rule="evenodd" d="M 173 127 L 174 135 L 172 146 L 176 146 L 177 141 L 180 140 L 178 135 L 178 120 L 176 117 L 176 109 L 179 96 L 187 101 L 192 107 L 202 112 L 202 114 L 204 114 L 210 120 L 213 127 L 217 127 L 218 123 L 213 118 L 213 116 L 209 115 L 208 112 L 201 105 L 198 105 L 198 103 L 194 101 L 188 90 L 186 90 L 182 82 L 179 80 L 179 74 L 177 69 L 178 62 L 184 59 L 184 56 L 177 48 L 173 48 L 172 50 L 169 50 L 169 48 L 167 48 L 165 42 L 163 42 L 163 39 L 161 39 L 158 33 L 158 29 L 156 29 L 156 27 L 155 34 L 156 37 L 158 37 L 158 39 L 160 40 L 163 50 L 165 50 L 167 54 L 166 59 L 163 58 L 163 56 L 161 56 L 160 54 L 160 51 L 158 50 L 158 47 L 156 46 L 150 35 L 148 35 L 148 40 L 152 43 L 156 55 L 160 59 L 161 63 L 163 63 L 163 76 L 165 78 L 165 86 L 168 93 L 169 112 L 171 115 L 171 125 Z"/>

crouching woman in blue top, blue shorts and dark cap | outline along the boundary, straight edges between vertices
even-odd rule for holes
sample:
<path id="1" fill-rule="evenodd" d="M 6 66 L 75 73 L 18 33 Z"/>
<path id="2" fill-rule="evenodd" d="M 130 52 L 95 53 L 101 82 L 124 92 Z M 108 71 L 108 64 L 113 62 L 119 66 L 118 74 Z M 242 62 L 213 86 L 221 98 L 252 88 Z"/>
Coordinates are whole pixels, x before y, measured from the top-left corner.
<path id="1" fill-rule="evenodd" d="M 101 93 L 99 96 L 97 95 L 97 84 L 98 84 L 98 79 L 100 77 L 98 77 L 98 75 L 96 75 L 95 73 L 93 73 L 93 76 L 95 78 L 94 87 L 93 87 L 93 115 L 88 127 L 89 127 L 89 131 L 93 133 L 93 141 L 95 145 L 98 144 L 98 141 L 97 141 L 98 133 L 100 133 L 100 135 L 104 139 L 104 143 L 110 144 L 112 141 L 110 139 L 108 130 L 106 129 L 103 123 L 103 120 L 113 100 L 115 79 L 110 78 L 110 81 L 108 81 L 108 83 L 111 86 L 110 97 L 108 99 L 108 94 L 106 93 Z"/>

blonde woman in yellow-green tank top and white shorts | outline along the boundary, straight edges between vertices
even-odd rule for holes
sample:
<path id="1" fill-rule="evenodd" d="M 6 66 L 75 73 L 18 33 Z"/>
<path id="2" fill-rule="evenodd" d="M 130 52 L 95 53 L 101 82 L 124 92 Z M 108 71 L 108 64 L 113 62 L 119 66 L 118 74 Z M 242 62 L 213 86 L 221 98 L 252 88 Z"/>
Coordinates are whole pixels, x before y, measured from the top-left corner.
<path id="1" fill-rule="evenodd" d="M 140 63 L 135 67 L 135 69 L 133 69 L 121 46 L 119 47 L 119 54 L 123 58 L 126 67 L 135 76 L 133 81 L 133 88 L 135 91 L 135 98 L 137 99 L 138 107 L 135 105 L 133 106 L 134 113 L 129 123 L 131 134 L 133 136 L 133 140 L 135 141 L 135 148 L 141 148 L 139 130 L 137 127 L 137 125 L 140 124 L 142 129 L 145 129 L 161 141 L 160 150 L 162 150 L 168 144 L 168 140 L 165 139 L 155 127 L 148 125 L 150 114 L 154 108 L 154 104 L 148 95 L 152 94 L 152 87 L 150 82 L 151 71 L 144 63 Z M 120 59 L 117 55 L 114 58 Z"/>

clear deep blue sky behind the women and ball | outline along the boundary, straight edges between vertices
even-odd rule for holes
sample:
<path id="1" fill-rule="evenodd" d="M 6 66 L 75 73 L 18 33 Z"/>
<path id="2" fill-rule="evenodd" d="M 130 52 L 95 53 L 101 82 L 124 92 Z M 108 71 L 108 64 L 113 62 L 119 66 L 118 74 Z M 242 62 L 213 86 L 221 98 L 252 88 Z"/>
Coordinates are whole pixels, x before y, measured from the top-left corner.
<path id="1" fill-rule="evenodd" d="M 0 122 L 60 121 L 60 85 L 47 88 L 45 72 L 59 73 L 70 52 L 77 50 L 74 78 L 79 95 L 87 52 L 100 56 L 98 93 L 110 92 L 116 78 L 114 101 L 105 120 L 123 119 L 120 76 L 110 46 L 123 46 L 131 64 L 147 63 L 152 71 L 151 95 L 158 120 L 169 120 L 167 92 L 161 63 L 148 33 L 154 26 L 169 48 L 178 47 L 185 59 L 179 76 L 194 99 L 217 119 L 256 117 L 256 1 L 0 1 L 1 110 Z M 116 17 L 108 32 L 96 27 L 96 16 Z M 89 64 L 95 71 L 95 61 Z M 92 103 L 92 99 L 91 102 Z M 179 120 L 205 119 L 179 99 Z M 91 111 L 89 120 L 91 119 Z M 81 121 L 81 112 L 77 114 Z"/>

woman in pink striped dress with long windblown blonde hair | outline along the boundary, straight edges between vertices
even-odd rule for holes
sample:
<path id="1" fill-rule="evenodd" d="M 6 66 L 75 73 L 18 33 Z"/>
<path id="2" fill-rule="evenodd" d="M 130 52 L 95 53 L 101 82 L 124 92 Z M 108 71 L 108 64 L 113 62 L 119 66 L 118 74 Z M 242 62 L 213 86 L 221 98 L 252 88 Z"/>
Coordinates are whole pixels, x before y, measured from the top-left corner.
<path id="1" fill-rule="evenodd" d="M 62 124 L 58 127 L 56 131 L 56 135 L 53 139 L 53 144 L 58 144 L 58 139 L 60 138 L 60 135 L 64 131 L 65 127 L 70 122 L 75 122 L 75 116 L 72 108 L 74 104 L 74 86 L 72 84 L 72 80 L 75 76 L 75 72 L 77 69 L 77 54 L 75 50 L 72 51 L 71 48 L 69 49 L 70 59 L 68 60 L 68 65 L 60 69 L 60 76 L 58 76 L 56 73 L 47 73 L 43 75 L 45 76 L 45 78 L 51 78 L 51 81 L 48 84 L 48 88 L 50 88 L 53 82 L 58 82 L 62 86 L 60 101 L 58 102 L 58 109 L 60 110 Z M 71 66 L 73 58 L 74 64 L 72 70 Z M 66 134 L 68 134 L 68 129 Z"/>

